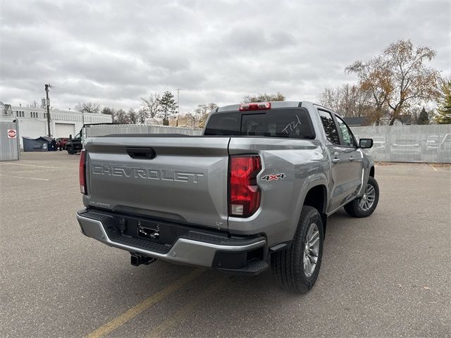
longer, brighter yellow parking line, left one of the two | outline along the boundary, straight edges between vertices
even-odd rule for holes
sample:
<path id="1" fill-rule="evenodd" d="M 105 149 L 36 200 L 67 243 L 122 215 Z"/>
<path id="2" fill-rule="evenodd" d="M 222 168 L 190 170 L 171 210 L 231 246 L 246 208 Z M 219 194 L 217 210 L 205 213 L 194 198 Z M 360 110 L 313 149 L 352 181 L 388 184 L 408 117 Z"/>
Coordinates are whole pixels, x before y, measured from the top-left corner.
<path id="1" fill-rule="evenodd" d="M 164 299 L 169 294 L 172 294 L 173 292 L 180 289 L 180 287 L 183 287 L 183 285 L 191 282 L 196 277 L 201 275 L 204 272 L 204 269 L 198 268 L 195 270 L 192 270 L 191 273 L 188 273 L 187 275 L 180 278 L 180 280 L 177 280 L 173 282 L 173 284 L 169 285 L 168 287 L 165 287 L 159 292 L 156 292 L 156 294 L 152 294 L 149 298 L 145 299 L 141 303 L 137 304 L 136 306 L 133 306 L 128 311 L 123 313 L 122 315 L 119 315 L 118 317 L 111 320 L 109 323 L 106 323 L 105 325 L 102 325 L 94 332 L 91 332 L 87 335 L 88 338 L 99 338 L 103 337 L 105 334 L 109 334 L 111 331 L 116 330 L 118 327 L 123 325 L 124 323 L 128 322 L 128 320 L 135 318 L 137 315 L 142 313 L 142 311 L 146 310 L 147 308 L 151 307 L 155 303 L 158 303 L 161 301 L 161 299 Z"/>

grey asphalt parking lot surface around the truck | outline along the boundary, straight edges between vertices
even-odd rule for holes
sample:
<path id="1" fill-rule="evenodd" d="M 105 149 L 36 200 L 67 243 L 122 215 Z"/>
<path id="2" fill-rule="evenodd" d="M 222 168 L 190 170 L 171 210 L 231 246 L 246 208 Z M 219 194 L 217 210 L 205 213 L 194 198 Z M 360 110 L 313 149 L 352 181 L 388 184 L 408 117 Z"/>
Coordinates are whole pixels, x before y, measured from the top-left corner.
<path id="1" fill-rule="evenodd" d="M 0 162 L 0 337 L 450 337 L 451 170 L 378 165 L 369 218 L 328 220 L 309 294 L 130 255 L 80 233 L 79 156 Z"/>

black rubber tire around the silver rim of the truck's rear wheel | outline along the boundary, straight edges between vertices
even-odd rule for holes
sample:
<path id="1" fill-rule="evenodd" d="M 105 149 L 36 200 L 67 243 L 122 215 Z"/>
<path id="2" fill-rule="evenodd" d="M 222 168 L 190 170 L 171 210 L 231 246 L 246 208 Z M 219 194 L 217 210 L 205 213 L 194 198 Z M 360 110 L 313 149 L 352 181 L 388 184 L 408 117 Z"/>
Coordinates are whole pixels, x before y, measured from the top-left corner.
<path id="1" fill-rule="evenodd" d="M 304 248 L 306 247 L 307 233 L 313 224 L 316 224 L 319 232 L 319 250 L 313 273 L 307 277 L 304 273 Z M 323 258 L 323 239 L 323 221 L 318 210 L 311 206 L 303 206 L 290 249 L 271 254 L 271 270 L 282 289 L 296 294 L 305 294 L 314 286 Z"/>

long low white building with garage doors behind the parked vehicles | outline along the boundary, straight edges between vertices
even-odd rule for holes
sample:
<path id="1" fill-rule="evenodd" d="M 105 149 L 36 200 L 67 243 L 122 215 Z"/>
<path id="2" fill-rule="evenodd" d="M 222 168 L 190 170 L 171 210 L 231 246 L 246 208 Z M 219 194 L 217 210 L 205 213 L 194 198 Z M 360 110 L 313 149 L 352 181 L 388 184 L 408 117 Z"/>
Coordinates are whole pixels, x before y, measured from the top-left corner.
<path id="1" fill-rule="evenodd" d="M 7 108 L 6 108 L 7 107 Z M 0 121 L 12 122 L 19 120 L 20 146 L 23 147 L 22 137 L 37 138 L 47 136 L 47 109 L 23 106 L 0 106 Z M 80 113 L 80 111 L 50 110 L 50 134 L 58 137 L 69 137 L 78 134 L 83 124 L 111 123 L 111 115 Z"/>

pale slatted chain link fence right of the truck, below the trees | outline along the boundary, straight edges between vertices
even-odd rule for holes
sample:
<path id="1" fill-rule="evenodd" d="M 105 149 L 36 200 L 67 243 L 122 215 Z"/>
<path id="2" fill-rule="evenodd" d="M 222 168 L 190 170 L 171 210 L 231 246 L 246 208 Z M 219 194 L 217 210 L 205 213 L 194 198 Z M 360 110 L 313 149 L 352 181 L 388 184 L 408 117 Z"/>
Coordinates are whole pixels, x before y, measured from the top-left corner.
<path id="1" fill-rule="evenodd" d="M 451 163 L 451 125 L 351 127 L 357 139 L 373 139 L 376 161 Z"/>

